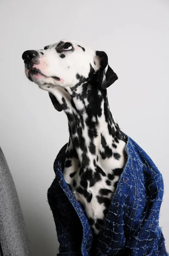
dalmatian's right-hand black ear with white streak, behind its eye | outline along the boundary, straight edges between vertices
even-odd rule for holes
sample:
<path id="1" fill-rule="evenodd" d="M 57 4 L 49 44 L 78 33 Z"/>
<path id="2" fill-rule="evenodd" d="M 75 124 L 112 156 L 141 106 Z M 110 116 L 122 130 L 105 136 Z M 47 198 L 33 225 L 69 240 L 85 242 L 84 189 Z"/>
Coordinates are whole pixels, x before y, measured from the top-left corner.
<path id="1" fill-rule="evenodd" d="M 105 52 L 96 51 L 96 58 L 99 61 L 99 83 L 103 89 L 113 84 L 118 76 L 114 73 L 108 64 L 108 57 Z"/>

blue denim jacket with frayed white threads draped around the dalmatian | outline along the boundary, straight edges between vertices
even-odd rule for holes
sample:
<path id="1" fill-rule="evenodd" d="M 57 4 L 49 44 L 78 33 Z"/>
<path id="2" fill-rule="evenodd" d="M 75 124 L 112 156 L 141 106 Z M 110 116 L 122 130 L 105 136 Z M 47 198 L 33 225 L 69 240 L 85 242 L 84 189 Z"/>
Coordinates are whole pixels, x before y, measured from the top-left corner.
<path id="1" fill-rule="evenodd" d="M 62 175 L 67 144 L 54 162 L 48 189 L 59 240 L 58 256 L 167 256 L 159 227 L 163 177 L 150 157 L 128 137 L 127 163 L 99 236 Z"/>

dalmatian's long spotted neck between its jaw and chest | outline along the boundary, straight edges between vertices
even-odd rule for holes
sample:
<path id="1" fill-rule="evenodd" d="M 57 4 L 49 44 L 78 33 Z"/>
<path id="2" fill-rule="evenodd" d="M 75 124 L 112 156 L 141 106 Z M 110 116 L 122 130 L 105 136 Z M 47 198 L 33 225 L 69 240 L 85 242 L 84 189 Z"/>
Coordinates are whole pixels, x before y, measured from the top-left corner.
<path id="1" fill-rule="evenodd" d="M 70 133 L 67 156 L 79 158 L 84 168 L 94 169 L 99 158 L 104 169 L 123 167 L 126 138 L 110 112 L 107 90 L 90 82 L 62 88 L 62 108 Z"/>

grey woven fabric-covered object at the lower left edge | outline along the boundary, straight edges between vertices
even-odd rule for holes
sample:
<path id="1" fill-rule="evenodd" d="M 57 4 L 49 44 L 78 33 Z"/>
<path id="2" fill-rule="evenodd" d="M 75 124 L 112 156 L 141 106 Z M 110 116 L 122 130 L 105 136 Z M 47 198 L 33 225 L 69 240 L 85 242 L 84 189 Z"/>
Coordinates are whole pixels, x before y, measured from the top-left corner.
<path id="1" fill-rule="evenodd" d="M 14 180 L 0 148 L 0 256 L 31 256 Z"/>

